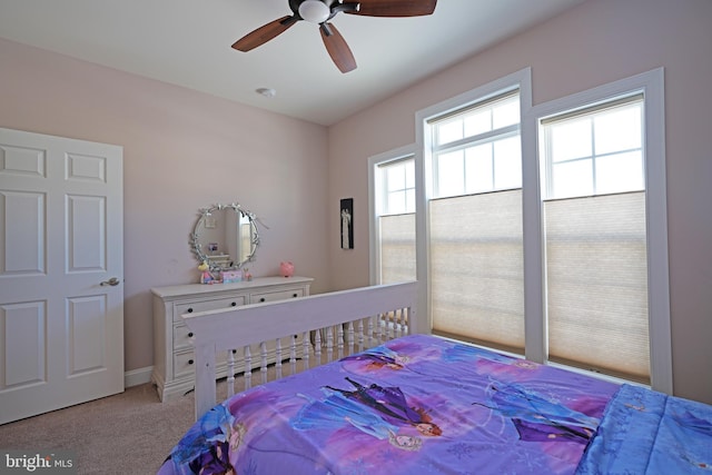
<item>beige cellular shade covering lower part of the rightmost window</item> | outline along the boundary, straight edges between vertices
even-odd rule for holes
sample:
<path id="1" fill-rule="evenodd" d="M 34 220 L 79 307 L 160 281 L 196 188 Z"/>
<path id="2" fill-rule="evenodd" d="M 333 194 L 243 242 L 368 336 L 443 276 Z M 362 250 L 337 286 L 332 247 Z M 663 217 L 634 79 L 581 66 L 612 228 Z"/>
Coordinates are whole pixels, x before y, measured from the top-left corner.
<path id="1" fill-rule="evenodd" d="M 548 358 L 650 383 L 645 195 L 544 204 Z"/>

